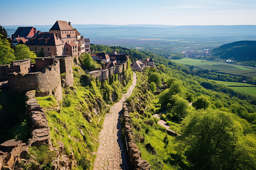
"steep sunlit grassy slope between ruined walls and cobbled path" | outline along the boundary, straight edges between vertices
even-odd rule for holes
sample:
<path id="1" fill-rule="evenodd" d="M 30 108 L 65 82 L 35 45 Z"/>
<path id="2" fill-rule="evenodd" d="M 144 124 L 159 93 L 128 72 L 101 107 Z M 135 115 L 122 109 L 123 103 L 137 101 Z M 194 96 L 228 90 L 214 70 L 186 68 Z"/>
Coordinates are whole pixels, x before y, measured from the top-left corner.
<path id="1" fill-rule="evenodd" d="M 111 98 L 115 92 L 118 100 L 121 97 L 123 86 L 118 80 L 117 75 L 113 75 L 111 79 L 105 80 L 103 83 L 92 79 L 90 85 L 85 85 L 84 72 L 78 67 L 74 68 L 75 83 L 73 87 L 64 89 L 63 104 L 60 112 L 56 112 L 57 104 L 55 99 L 51 100 L 48 97 L 37 97 L 39 104 L 47 111 L 47 119 L 51 133 L 51 141 L 54 146 L 58 146 L 58 141 L 63 142 L 67 155 L 73 153 L 79 165 L 79 169 L 92 169 L 93 161 L 96 157 L 95 152 L 99 146 L 98 134 L 102 129 L 105 113 L 109 111 L 109 105 L 103 100 L 108 96 Z M 126 76 L 129 82 L 132 82 L 131 69 L 126 71 Z M 51 98 L 51 97 L 50 97 Z M 112 99 L 106 100 L 109 104 L 113 104 Z M 102 109 L 98 111 L 99 115 L 92 112 L 95 105 L 102 105 Z M 92 117 L 92 122 L 86 120 L 86 115 Z M 81 131 L 84 136 L 81 134 Z"/>

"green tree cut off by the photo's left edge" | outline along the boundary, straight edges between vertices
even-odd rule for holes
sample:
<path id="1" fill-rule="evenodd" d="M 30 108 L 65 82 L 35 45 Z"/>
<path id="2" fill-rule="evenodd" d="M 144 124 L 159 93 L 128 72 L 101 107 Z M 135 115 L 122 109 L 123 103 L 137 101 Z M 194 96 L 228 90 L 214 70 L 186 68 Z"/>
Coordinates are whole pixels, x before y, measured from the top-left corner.
<path id="1" fill-rule="evenodd" d="M 15 60 L 14 50 L 10 45 L 10 42 L 0 34 L 0 65 L 10 64 Z"/>

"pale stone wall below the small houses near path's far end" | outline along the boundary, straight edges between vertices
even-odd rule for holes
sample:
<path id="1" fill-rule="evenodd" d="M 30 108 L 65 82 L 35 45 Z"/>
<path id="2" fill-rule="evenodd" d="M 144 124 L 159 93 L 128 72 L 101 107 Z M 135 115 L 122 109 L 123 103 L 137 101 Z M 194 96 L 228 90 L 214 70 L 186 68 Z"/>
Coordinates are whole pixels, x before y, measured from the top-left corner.
<path id="1" fill-rule="evenodd" d="M 99 81 L 103 81 L 108 79 L 113 74 L 119 74 L 122 73 L 123 70 L 127 70 L 127 61 L 124 63 L 117 63 L 115 67 L 111 67 L 106 70 L 95 70 L 90 71 L 89 75 L 94 78 L 98 78 Z"/>

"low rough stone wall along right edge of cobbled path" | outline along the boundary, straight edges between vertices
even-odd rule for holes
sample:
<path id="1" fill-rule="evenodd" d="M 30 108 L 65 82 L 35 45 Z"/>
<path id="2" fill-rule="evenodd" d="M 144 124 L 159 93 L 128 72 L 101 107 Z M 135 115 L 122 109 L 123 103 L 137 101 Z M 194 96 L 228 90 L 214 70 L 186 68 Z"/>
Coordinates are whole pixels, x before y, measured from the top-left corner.
<path id="1" fill-rule="evenodd" d="M 150 169 L 151 165 L 141 158 L 141 151 L 139 151 L 138 146 L 136 145 L 134 138 L 133 138 L 133 131 L 131 125 L 131 117 L 129 114 L 129 109 L 127 107 L 127 103 L 123 103 L 123 124 L 125 126 L 125 135 L 127 139 L 127 148 L 130 157 L 131 166 L 133 169 L 139 170 L 148 170 Z"/>

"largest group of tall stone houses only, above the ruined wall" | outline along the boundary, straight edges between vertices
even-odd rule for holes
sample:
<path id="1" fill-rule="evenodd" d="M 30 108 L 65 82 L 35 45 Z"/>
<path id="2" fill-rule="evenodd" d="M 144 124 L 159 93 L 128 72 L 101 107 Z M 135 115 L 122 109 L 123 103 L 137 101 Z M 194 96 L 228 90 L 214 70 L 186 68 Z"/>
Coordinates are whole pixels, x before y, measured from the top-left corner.
<path id="1" fill-rule="evenodd" d="M 71 22 L 57 20 L 48 32 L 34 27 L 18 27 L 11 35 L 13 45 L 25 44 L 35 53 L 47 56 L 81 56 L 90 53 L 90 40 L 84 39 Z"/>

